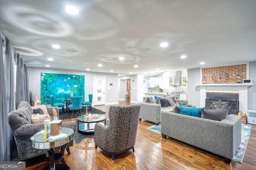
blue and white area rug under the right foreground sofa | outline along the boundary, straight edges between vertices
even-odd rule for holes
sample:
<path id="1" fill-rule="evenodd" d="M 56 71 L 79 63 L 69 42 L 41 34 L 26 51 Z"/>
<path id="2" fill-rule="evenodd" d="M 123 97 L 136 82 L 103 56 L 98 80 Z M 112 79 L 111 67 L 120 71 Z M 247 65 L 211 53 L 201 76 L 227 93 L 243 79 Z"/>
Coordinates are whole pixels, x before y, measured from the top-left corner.
<path id="1" fill-rule="evenodd" d="M 152 125 L 150 127 L 147 127 L 146 129 L 149 129 L 151 131 L 155 131 L 157 133 L 161 133 L 161 125 Z M 238 148 L 238 150 L 235 153 L 233 161 L 236 161 L 238 163 L 242 163 L 242 160 L 244 158 L 244 153 L 250 138 L 252 125 L 250 124 L 244 124 L 242 123 L 242 137 L 241 137 L 241 144 Z"/>

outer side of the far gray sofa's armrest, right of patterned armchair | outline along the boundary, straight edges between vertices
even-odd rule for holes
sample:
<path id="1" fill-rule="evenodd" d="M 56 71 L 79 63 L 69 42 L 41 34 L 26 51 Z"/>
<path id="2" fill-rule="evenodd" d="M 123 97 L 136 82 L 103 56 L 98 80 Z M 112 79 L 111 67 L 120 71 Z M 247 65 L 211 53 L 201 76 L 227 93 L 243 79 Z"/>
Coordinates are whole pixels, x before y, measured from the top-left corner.
<path id="1" fill-rule="evenodd" d="M 140 119 L 160 123 L 161 105 L 142 102 L 140 108 Z"/>

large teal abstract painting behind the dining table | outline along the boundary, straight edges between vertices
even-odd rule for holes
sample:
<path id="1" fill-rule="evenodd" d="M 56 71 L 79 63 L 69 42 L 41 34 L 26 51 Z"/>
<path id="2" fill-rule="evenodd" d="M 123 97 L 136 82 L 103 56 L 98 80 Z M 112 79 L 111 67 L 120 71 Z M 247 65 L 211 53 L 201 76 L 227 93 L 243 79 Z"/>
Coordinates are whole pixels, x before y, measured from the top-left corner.
<path id="1" fill-rule="evenodd" d="M 50 95 L 54 102 L 66 103 L 72 92 L 84 97 L 84 75 L 41 73 L 42 104 L 50 104 Z"/>

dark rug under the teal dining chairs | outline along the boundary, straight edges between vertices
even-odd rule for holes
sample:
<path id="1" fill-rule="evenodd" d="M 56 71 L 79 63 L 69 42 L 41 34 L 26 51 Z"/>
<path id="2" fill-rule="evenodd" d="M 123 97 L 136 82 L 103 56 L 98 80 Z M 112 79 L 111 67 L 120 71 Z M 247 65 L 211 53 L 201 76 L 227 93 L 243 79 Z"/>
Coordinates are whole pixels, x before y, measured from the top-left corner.
<path id="1" fill-rule="evenodd" d="M 92 107 L 92 110 L 88 109 L 88 113 L 92 113 L 92 114 L 104 114 L 104 111 L 101 111 L 99 109 L 95 109 L 94 107 Z M 84 111 L 82 111 L 82 115 L 85 115 L 85 108 Z M 64 113 L 59 112 L 59 119 L 63 120 L 63 119 L 69 119 L 69 118 L 73 118 L 73 117 L 78 117 L 80 116 L 80 113 L 78 111 L 74 111 L 74 115 L 72 116 L 72 111 L 70 110 L 70 114 L 68 114 L 68 111 L 64 111 Z"/>

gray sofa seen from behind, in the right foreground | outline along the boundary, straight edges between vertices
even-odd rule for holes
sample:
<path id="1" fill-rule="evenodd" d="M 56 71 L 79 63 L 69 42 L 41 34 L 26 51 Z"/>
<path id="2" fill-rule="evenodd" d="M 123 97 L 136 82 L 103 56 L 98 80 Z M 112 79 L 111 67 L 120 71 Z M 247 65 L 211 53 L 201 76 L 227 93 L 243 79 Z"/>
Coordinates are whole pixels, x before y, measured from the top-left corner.
<path id="1" fill-rule="evenodd" d="M 161 133 L 177 141 L 222 156 L 230 163 L 241 143 L 241 116 L 222 121 L 161 111 Z"/>

